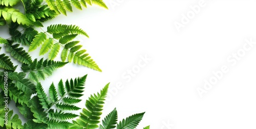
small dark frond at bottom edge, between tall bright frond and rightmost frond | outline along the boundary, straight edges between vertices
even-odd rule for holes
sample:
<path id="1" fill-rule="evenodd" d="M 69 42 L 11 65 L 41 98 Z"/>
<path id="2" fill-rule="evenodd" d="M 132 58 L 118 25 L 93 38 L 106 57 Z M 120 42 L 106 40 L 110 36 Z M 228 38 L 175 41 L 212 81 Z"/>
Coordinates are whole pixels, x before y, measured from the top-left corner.
<path id="1" fill-rule="evenodd" d="M 116 127 L 116 124 L 117 124 L 116 108 L 102 120 L 102 124 L 103 125 L 100 125 L 100 129 L 111 129 Z"/>

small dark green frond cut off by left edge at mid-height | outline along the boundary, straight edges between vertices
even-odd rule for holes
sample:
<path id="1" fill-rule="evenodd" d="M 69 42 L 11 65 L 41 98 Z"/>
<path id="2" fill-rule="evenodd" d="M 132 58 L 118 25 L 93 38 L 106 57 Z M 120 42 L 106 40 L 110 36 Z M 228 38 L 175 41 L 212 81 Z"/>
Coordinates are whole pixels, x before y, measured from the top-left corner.
<path id="1" fill-rule="evenodd" d="M 0 47 L 1 50 L 2 47 Z M 0 55 L 0 68 L 14 71 L 15 67 L 13 66 L 13 63 L 11 62 L 11 59 L 6 56 L 5 54 Z"/>

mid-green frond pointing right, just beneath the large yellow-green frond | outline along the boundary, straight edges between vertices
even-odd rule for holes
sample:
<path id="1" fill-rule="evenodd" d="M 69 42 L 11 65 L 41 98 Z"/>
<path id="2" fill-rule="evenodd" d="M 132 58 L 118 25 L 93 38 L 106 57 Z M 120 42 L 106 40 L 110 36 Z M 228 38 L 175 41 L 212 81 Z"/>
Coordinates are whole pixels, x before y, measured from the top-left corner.
<path id="1" fill-rule="evenodd" d="M 29 79 L 38 82 L 39 79 L 45 80 L 47 76 L 52 75 L 54 70 L 65 66 L 67 63 L 68 62 L 48 61 L 42 58 L 39 61 L 35 59 L 31 64 L 23 64 L 21 68 L 24 72 L 29 72 Z"/>

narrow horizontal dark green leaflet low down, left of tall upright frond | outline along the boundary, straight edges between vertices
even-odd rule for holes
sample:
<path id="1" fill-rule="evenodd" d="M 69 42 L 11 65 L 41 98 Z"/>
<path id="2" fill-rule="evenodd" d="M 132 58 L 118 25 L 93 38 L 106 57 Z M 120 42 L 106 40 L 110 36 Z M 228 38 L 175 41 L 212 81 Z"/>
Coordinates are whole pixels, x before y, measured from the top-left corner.
<path id="1" fill-rule="evenodd" d="M 55 111 L 53 109 L 49 110 L 49 118 L 50 119 L 59 119 L 59 120 L 67 120 L 77 117 L 78 115 L 73 113 L 63 113 L 61 111 Z"/>

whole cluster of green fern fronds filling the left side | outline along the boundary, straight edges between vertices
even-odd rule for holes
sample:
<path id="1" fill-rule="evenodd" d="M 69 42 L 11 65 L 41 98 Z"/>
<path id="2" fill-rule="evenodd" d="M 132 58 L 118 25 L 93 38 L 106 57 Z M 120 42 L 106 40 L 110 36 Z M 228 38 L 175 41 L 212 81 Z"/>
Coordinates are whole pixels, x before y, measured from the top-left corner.
<path id="1" fill-rule="evenodd" d="M 101 71 L 87 50 L 75 40 L 78 35 L 89 37 L 82 29 L 67 24 L 52 24 L 47 30 L 43 28 L 45 21 L 59 14 L 67 15 L 67 11 L 72 12 L 73 8 L 82 10 L 82 7 L 93 4 L 108 9 L 102 0 L 0 0 L 0 25 L 9 28 L 11 35 L 8 39 L 0 37 L 3 44 L 0 50 L 9 53 L 0 54 L 0 128 L 136 128 L 144 113 L 118 122 L 117 110 L 114 109 L 100 124 L 109 84 L 92 94 L 81 109 L 75 104 L 81 101 L 87 75 L 52 83 L 49 95 L 40 83 L 56 69 L 71 62 Z M 24 12 L 16 9 L 19 5 L 24 7 Z M 28 47 L 28 51 L 24 47 Z M 29 52 L 38 47 L 39 55 L 47 54 L 48 59 L 32 59 Z M 55 60 L 58 54 L 61 61 Z M 36 95 L 32 97 L 33 94 Z M 26 123 L 22 124 L 19 116 L 9 111 L 11 100 L 26 118 Z M 79 115 L 72 113 L 78 110 L 82 110 Z M 69 122 L 70 119 L 73 121 Z"/>

